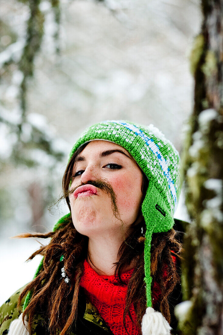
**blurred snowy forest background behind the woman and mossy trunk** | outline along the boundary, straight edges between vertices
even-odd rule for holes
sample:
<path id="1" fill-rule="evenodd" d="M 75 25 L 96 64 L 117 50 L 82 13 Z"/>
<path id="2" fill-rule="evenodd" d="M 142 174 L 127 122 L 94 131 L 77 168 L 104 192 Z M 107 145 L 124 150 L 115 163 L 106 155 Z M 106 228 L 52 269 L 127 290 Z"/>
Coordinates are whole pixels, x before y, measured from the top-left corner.
<path id="1" fill-rule="evenodd" d="M 38 242 L 9 237 L 67 213 L 48 206 L 86 126 L 152 123 L 182 153 L 201 20 L 198 0 L 1 0 L 0 305 L 40 262 L 24 263 Z M 188 219 L 182 198 L 175 217 Z"/>

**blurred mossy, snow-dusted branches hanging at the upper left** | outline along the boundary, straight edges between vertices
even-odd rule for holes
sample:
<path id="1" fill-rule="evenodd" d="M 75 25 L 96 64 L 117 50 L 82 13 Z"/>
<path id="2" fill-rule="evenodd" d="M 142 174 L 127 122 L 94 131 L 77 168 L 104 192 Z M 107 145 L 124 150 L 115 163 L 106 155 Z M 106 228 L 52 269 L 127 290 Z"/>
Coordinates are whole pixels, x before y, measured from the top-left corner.
<path id="1" fill-rule="evenodd" d="M 2 105 L 0 122 L 7 125 L 9 132 L 16 134 L 17 141 L 13 145 L 10 159 L 13 164 L 26 164 L 34 166 L 35 160 L 28 158 L 27 150 L 38 148 L 56 160 L 62 160 L 65 153 L 57 150 L 52 145 L 53 137 L 49 135 L 47 127 L 39 127 L 34 122 L 29 122 L 27 118 L 27 88 L 30 78 L 34 72 L 34 60 L 40 50 L 44 35 L 44 11 L 40 9 L 41 0 L 23 0 L 24 5 L 28 6 L 29 17 L 26 22 L 25 37 L 18 36 L 17 41 L 10 44 L 0 53 L 0 64 L 2 76 L 10 81 L 11 74 L 13 86 L 16 86 L 16 107 L 12 111 L 7 111 Z M 60 9 L 59 0 L 50 0 L 57 29 L 54 38 L 56 52 L 59 53 L 59 24 Z M 3 70 L 4 69 L 4 70 Z M 41 116 L 40 116 L 41 117 Z M 33 119 L 33 118 L 32 118 Z M 42 124 L 44 123 L 42 118 Z M 40 163 L 40 162 L 39 162 Z"/>

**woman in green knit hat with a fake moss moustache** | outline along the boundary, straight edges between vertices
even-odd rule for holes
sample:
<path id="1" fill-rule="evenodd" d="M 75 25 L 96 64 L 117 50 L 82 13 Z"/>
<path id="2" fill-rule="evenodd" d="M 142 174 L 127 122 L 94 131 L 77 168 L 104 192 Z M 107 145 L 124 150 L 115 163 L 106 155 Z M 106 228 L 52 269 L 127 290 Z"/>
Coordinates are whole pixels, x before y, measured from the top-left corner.
<path id="1" fill-rule="evenodd" d="M 30 256 L 43 255 L 34 279 L 1 307 L 0 335 L 176 334 L 173 145 L 153 125 L 93 125 L 71 150 L 63 194 L 69 213 L 52 232 L 19 236 L 51 241 Z"/>

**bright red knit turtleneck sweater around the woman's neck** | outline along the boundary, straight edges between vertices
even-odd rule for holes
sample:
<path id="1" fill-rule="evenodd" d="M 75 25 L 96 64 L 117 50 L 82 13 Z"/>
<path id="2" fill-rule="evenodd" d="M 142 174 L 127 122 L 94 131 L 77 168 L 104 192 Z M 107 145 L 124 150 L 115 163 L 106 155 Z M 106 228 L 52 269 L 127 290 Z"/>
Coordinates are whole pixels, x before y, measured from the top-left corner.
<path id="1" fill-rule="evenodd" d="M 89 298 L 90 302 L 96 307 L 101 317 L 115 335 L 127 335 L 123 324 L 123 312 L 125 309 L 127 284 L 132 273 L 133 269 L 123 273 L 121 278 L 125 284 L 120 284 L 117 282 L 114 275 L 98 275 L 90 267 L 88 262 L 86 260 L 84 261 L 84 272 L 80 285 L 84 288 L 85 294 Z M 153 306 L 155 306 L 158 302 L 160 294 L 160 287 L 155 282 L 152 291 Z M 136 314 L 133 304 L 130 307 L 130 313 L 134 323 L 132 323 L 127 315 L 126 328 L 129 334 L 138 335 L 140 334 L 140 330 L 136 323 Z"/>

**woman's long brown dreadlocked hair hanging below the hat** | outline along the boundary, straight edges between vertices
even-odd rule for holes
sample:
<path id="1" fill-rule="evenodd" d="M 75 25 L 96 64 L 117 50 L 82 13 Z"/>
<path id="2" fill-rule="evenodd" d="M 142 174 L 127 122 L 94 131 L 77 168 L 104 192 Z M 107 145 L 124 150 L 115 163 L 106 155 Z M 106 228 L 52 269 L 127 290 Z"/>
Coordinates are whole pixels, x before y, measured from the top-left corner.
<path id="1" fill-rule="evenodd" d="M 73 154 L 63 176 L 63 197 L 66 199 L 70 210 L 69 184 L 73 174 L 73 167 L 76 164 L 78 155 L 86 145 L 87 143 Z M 143 177 L 142 191 L 145 196 L 148 179 L 144 173 Z M 142 229 L 145 232 L 146 226 L 140 211 L 138 218 L 130 227 L 128 236 L 125 237 L 119 249 L 118 262 L 115 263 L 115 275 L 121 283 L 121 273 L 135 260 L 134 271 L 127 287 L 126 306 L 123 316 L 125 328 L 126 318 L 129 317 L 132 320 L 130 314 L 131 304 L 134 305 L 139 328 L 146 310 L 143 243 L 145 239 L 142 236 Z M 44 263 L 43 270 L 25 287 L 19 296 L 18 306 L 27 292 L 32 291 L 30 302 L 23 312 L 23 321 L 25 315 L 27 315 L 28 325 L 31 329 L 35 315 L 41 312 L 44 318 L 43 323 L 52 333 L 56 333 L 56 330 L 59 329 L 61 335 L 65 335 L 71 329 L 77 317 L 78 293 L 83 273 L 83 261 L 87 257 L 88 238 L 75 229 L 71 217 L 57 231 L 45 234 L 24 233 L 17 237 L 51 238 L 47 246 L 41 247 L 28 258 L 31 260 L 36 255 L 43 255 Z M 180 281 L 172 255 L 180 259 L 181 248 L 182 245 L 176 238 L 174 229 L 152 235 L 151 276 L 153 282 L 151 287 L 153 291 L 154 282 L 156 282 L 161 290 L 160 301 L 157 306 L 153 307 L 160 311 L 169 323 L 171 318 L 168 297 L 176 283 Z M 71 280 L 71 286 L 67 285 L 61 278 L 61 255 L 64 255 L 64 268 Z M 166 271 L 166 279 L 163 276 L 164 271 Z"/>

